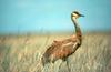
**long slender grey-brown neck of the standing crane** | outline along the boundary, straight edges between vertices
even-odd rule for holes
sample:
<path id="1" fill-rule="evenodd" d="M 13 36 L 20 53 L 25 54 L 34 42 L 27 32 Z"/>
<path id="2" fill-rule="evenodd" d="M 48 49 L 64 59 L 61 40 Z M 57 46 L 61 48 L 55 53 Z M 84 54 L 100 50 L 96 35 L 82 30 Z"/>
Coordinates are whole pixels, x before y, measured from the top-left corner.
<path id="1" fill-rule="evenodd" d="M 74 17 L 71 17 L 71 20 L 73 21 L 73 24 L 75 27 L 75 34 L 77 34 L 77 38 L 81 41 L 82 40 L 82 32 L 81 32 L 81 29 L 77 22 L 77 18 Z"/>

